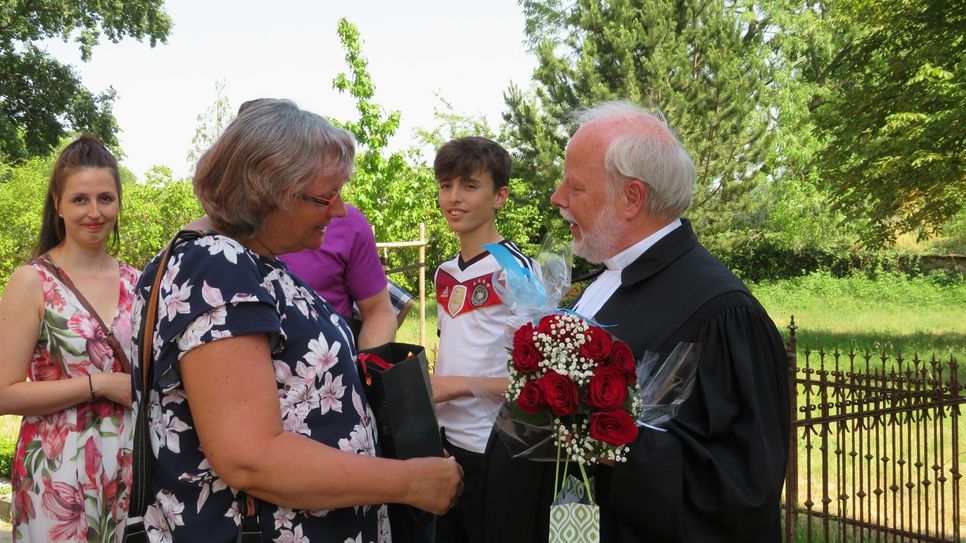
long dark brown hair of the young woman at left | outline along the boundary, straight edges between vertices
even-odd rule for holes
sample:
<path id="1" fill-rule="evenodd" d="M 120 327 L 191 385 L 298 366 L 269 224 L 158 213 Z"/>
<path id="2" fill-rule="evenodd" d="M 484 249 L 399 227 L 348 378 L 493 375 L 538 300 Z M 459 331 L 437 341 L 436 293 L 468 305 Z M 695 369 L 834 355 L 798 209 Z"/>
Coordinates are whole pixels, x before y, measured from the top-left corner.
<path id="1" fill-rule="evenodd" d="M 46 253 L 64 241 L 64 219 L 57 213 L 56 201 L 64 193 L 64 183 L 67 177 L 82 168 L 107 168 L 114 176 L 114 187 L 117 189 L 118 218 L 114 221 L 111 239 L 107 250 L 116 254 L 120 246 L 120 207 L 121 207 L 121 174 L 117 167 L 117 159 L 101 143 L 101 140 L 90 134 L 82 134 L 61 151 L 54 164 L 54 171 L 50 174 L 47 185 L 47 199 L 44 200 L 44 214 L 40 224 L 40 237 L 34 248 L 34 258 Z"/>

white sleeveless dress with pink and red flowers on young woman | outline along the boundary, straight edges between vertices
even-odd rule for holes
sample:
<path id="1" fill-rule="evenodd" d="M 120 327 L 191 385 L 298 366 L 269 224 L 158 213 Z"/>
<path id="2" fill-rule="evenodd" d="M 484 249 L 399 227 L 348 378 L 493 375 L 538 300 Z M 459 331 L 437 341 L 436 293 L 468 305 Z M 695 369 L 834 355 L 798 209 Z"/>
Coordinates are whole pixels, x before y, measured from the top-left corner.
<path id="1" fill-rule="evenodd" d="M 31 381 L 121 371 L 97 319 L 39 264 L 44 316 L 30 360 Z M 111 324 L 131 352 L 131 309 L 138 272 L 120 264 Z M 24 417 L 14 452 L 13 540 L 120 541 L 131 484 L 131 411 L 106 399 L 42 417 Z"/>

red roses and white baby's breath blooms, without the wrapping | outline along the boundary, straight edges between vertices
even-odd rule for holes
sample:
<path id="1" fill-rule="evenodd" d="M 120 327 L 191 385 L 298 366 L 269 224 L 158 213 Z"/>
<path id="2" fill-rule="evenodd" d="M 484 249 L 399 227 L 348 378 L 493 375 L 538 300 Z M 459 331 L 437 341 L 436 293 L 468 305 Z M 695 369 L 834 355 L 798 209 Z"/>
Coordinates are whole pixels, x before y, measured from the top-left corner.
<path id="1" fill-rule="evenodd" d="M 641 400 L 637 364 L 624 342 L 560 312 L 517 329 L 508 365 L 507 399 L 523 413 L 550 416 L 554 444 L 567 459 L 626 459 Z"/>

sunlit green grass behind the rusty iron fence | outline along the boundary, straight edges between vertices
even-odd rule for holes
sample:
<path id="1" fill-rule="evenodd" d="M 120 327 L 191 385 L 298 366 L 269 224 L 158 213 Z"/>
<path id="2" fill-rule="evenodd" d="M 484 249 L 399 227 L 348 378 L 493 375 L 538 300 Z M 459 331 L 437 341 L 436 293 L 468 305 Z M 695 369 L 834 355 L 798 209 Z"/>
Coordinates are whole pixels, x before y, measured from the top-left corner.
<path id="1" fill-rule="evenodd" d="M 960 277 L 948 275 L 936 275 L 930 277 L 909 278 L 898 274 L 883 274 L 876 280 L 869 279 L 864 275 L 853 275 L 846 278 L 832 278 L 824 274 L 813 274 L 807 277 L 796 278 L 785 281 L 775 281 L 761 284 L 749 285 L 754 294 L 761 300 L 768 310 L 775 323 L 781 329 L 783 335 L 788 337 L 789 316 L 795 315 L 795 323 L 798 326 L 796 337 L 798 339 L 798 364 L 802 366 L 805 361 L 805 350 L 813 351 L 809 356 L 809 365 L 817 368 L 820 357 L 818 350 L 826 351 L 826 369 L 834 369 L 834 356 L 828 353 L 836 350 L 847 353 L 854 350 L 859 353 L 856 357 L 856 369 L 865 371 L 867 368 L 875 370 L 883 367 L 888 371 L 895 368 L 896 357 L 901 355 L 906 360 L 906 368 L 911 368 L 911 358 L 918 354 L 920 358 L 928 360 L 932 355 L 939 358 L 944 364 L 950 357 L 955 357 L 960 364 L 958 377 L 960 382 L 966 378 L 966 280 Z M 872 357 L 866 362 L 862 356 L 869 352 Z M 879 355 L 885 353 L 889 360 L 883 364 Z M 840 368 L 849 371 L 849 358 L 842 356 L 839 359 Z M 944 372 L 943 379 L 947 380 L 949 373 Z M 800 396 L 800 400 L 804 398 Z M 814 399 L 813 399 L 814 400 Z M 951 421 L 945 420 L 942 423 L 945 436 L 946 450 L 940 462 L 949 469 L 953 464 L 961 463 L 960 458 L 950 457 L 951 442 Z M 836 428 L 832 426 L 832 428 Z M 801 437 L 801 436 L 799 436 Z M 930 434 L 931 437 L 931 434 Z M 851 439 L 851 438 L 847 438 Z M 817 447 L 819 444 L 817 436 L 813 436 L 812 445 Z M 847 447 L 846 444 L 845 447 Z M 930 447 L 935 444 L 931 443 Z M 843 447 L 843 448 L 845 448 Z M 837 435 L 830 436 L 829 451 L 839 449 L 837 445 Z M 959 450 L 966 450 L 966 434 L 959 435 Z M 812 469 L 811 476 L 802 470 L 805 469 L 806 459 L 811 454 Z M 799 457 L 799 501 L 805 499 L 805 492 L 811 487 L 812 499 L 819 502 L 822 496 L 821 464 L 819 461 L 819 450 L 813 448 L 811 452 L 806 449 L 804 440 L 798 441 Z M 890 454 L 892 452 L 890 451 Z M 914 451 L 904 451 L 906 458 L 913 458 Z M 930 454 L 926 455 L 927 460 L 931 460 L 934 454 L 930 449 Z M 845 473 L 845 487 L 841 491 L 852 487 L 852 463 L 854 459 L 848 456 L 847 469 Z M 830 458 L 835 458 L 830 454 Z M 835 485 L 838 482 L 835 475 L 835 461 L 830 468 L 830 495 L 833 498 L 831 509 L 838 511 L 839 503 L 835 500 L 837 490 Z M 929 464 L 929 462 L 926 462 Z M 863 465 L 861 461 L 858 465 Z M 961 469 L 961 468 L 960 468 Z M 928 470 L 927 470 L 928 472 Z M 916 478 L 918 480 L 918 478 Z M 911 492 L 911 491 L 910 491 Z M 923 492 L 921 486 L 916 487 L 916 496 L 920 497 Z M 948 492 L 948 490 L 947 490 Z M 956 515 L 952 511 L 950 494 L 946 494 L 947 516 L 943 519 L 944 523 L 952 522 L 952 517 Z M 931 498 L 933 499 L 933 498 Z M 851 496 L 848 507 L 853 506 L 856 496 Z M 800 503 L 801 505 L 801 503 Z M 816 505 L 820 509 L 820 503 Z M 891 509 L 891 502 L 885 505 Z M 912 511 L 914 509 L 907 504 L 906 515 L 911 523 Z M 848 515 L 851 510 L 843 511 Z M 930 514 L 934 514 L 933 511 Z M 962 523 L 964 518 L 962 513 L 958 514 L 959 521 Z M 918 522 L 918 513 L 916 513 Z M 796 521 L 796 541 L 805 541 L 805 526 L 807 521 L 799 518 Z M 822 522 L 819 519 L 812 519 L 812 541 L 822 540 Z M 851 526 L 844 530 L 842 537 L 841 525 L 832 523 L 832 541 L 861 541 L 866 537 L 858 535 L 856 529 Z M 910 531 L 914 531 L 912 524 L 907 525 Z M 947 527 L 949 524 L 947 524 Z M 935 528 L 935 522 L 932 524 Z M 868 533 L 866 532 L 866 536 Z"/>

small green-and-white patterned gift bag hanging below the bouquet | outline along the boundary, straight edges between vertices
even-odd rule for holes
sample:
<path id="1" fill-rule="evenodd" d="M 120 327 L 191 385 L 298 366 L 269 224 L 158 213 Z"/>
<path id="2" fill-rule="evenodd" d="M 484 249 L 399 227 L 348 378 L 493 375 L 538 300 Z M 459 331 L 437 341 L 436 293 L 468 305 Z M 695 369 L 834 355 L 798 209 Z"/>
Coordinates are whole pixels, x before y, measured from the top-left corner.
<path id="1" fill-rule="evenodd" d="M 587 494 L 590 481 L 586 473 L 582 474 L 584 481 L 565 476 L 557 498 L 550 506 L 549 543 L 600 542 L 600 508 Z"/>

